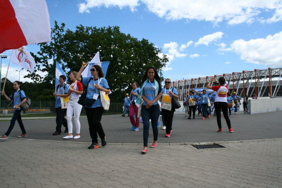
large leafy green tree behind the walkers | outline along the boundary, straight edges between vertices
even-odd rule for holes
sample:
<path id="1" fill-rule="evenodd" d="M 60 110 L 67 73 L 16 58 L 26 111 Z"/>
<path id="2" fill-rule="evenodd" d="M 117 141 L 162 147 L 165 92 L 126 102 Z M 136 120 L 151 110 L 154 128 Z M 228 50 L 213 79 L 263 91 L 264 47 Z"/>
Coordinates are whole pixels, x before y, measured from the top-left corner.
<path id="1" fill-rule="evenodd" d="M 140 81 L 149 66 L 154 66 L 162 77 L 162 68 L 168 62 L 166 55 L 160 57 L 161 49 L 147 39 L 138 40 L 130 34 L 120 32 L 119 27 L 84 27 L 75 31 L 65 30 L 65 24 L 52 29 L 52 42 L 40 44 L 41 50 L 35 56 L 37 69 L 47 71 L 42 78 L 31 74 L 33 80 L 52 82 L 54 80 L 53 61 L 62 64 L 66 73 L 78 71 L 82 62 L 89 62 L 99 52 L 101 61 L 110 61 L 107 71 L 112 101 L 120 101 L 131 91 L 131 82 Z"/>

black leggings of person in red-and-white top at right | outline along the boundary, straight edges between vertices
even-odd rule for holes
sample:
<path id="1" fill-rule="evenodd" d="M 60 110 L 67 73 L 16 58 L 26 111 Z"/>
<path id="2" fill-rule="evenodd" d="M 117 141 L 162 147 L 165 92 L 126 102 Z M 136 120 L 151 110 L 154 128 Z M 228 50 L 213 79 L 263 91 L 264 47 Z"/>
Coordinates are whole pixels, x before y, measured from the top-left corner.
<path id="1" fill-rule="evenodd" d="M 214 102 L 214 109 L 216 112 L 216 120 L 217 120 L 218 128 L 221 128 L 221 113 L 220 113 L 221 110 L 223 111 L 223 115 L 226 120 L 228 128 L 231 128 L 231 122 L 228 117 L 227 102 Z"/>

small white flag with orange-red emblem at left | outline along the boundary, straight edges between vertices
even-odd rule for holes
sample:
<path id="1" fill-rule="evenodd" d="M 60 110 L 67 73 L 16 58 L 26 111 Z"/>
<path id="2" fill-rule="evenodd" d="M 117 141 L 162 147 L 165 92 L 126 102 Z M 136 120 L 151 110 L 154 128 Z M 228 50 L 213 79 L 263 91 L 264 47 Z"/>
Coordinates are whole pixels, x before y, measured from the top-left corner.
<path id="1" fill-rule="evenodd" d="M 12 50 L 10 62 L 30 71 L 31 73 L 33 73 L 35 69 L 34 58 L 30 55 L 30 53 L 24 46 L 22 48 Z"/>

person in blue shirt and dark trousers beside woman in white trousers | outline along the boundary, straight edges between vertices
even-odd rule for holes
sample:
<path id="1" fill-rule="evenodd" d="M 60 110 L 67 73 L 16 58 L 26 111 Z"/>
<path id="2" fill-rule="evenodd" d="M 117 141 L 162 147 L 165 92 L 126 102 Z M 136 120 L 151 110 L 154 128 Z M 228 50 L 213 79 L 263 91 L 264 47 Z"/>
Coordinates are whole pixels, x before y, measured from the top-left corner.
<path id="1" fill-rule="evenodd" d="M 56 86 L 56 92 L 53 93 L 53 95 L 56 97 L 56 103 L 55 103 L 55 110 L 56 110 L 56 131 L 53 133 L 53 135 L 59 135 L 61 134 L 62 130 L 62 124 L 66 128 L 65 133 L 68 132 L 68 122 L 65 118 L 67 109 L 62 109 L 61 104 L 61 97 L 67 97 L 69 86 L 65 83 L 66 76 L 61 75 L 59 76 L 59 85 Z"/>

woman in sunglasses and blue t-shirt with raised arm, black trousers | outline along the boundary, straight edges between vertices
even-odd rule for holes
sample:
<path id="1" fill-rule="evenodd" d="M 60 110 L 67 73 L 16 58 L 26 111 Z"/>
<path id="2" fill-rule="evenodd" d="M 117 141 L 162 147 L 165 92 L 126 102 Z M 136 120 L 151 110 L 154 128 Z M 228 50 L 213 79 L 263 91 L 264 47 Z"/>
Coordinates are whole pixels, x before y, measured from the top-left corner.
<path id="1" fill-rule="evenodd" d="M 107 80 L 104 78 L 102 68 L 98 65 L 94 65 L 90 69 L 93 78 L 80 77 L 86 66 L 86 62 L 83 62 L 82 67 L 76 75 L 76 79 L 82 82 L 83 85 L 88 85 L 86 95 L 88 102 L 85 104 L 85 110 L 89 124 L 89 132 L 92 138 L 92 144 L 88 149 L 94 149 L 99 148 L 97 134 L 101 138 L 102 146 L 104 147 L 107 144 L 106 135 L 100 122 L 104 112 L 100 99 L 100 91 L 105 91 L 106 94 L 109 94 L 110 89 Z"/>

